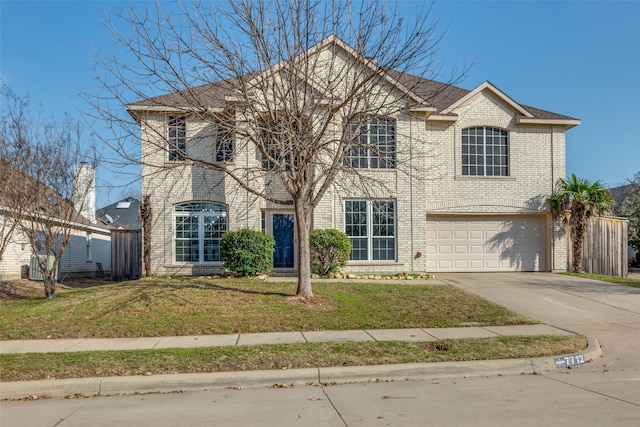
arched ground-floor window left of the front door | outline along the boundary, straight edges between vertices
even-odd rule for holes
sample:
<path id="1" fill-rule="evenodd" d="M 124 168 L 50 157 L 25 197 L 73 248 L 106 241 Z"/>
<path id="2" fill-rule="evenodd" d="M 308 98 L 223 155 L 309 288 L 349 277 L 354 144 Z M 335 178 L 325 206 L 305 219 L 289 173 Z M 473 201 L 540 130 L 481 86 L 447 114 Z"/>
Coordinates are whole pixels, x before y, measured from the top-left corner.
<path id="1" fill-rule="evenodd" d="M 227 230 L 228 209 L 210 202 L 187 202 L 174 208 L 175 262 L 220 261 L 220 239 Z"/>

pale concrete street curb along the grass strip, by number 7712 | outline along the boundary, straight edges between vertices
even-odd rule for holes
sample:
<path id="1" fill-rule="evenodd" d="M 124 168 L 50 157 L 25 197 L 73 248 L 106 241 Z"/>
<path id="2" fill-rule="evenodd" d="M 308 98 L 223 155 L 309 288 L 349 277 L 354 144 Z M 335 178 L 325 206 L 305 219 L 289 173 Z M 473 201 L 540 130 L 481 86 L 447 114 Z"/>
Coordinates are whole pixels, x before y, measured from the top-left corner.
<path id="1" fill-rule="evenodd" d="M 587 337 L 580 354 L 590 362 L 602 356 L 597 338 Z M 564 357 L 569 355 L 559 355 Z M 470 378 L 495 375 L 533 375 L 558 369 L 555 357 L 478 360 L 471 362 L 408 363 L 396 365 L 283 369 L 269 371 L 166 374 L 150 376 L 71 378 L 0 382 L 0 399 L 113 396 L 249 387 L 295 387 L 363 382 Z"/>

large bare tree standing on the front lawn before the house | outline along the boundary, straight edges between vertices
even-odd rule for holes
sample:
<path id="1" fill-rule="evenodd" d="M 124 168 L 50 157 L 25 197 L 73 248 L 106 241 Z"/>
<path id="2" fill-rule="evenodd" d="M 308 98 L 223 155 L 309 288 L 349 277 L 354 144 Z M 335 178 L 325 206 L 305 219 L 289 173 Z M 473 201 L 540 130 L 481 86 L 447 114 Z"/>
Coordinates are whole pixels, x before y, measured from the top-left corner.
<path id="1" fill-rule="evenodd" d="M 112 99 L 93 104 L 118 124 L 109 143 L 121 158 L 141 165 L 143 180 L 175 177 L 187 163 L 191 170 L 219 173 L 206 185 L 231 180 L 252 197 L 291 206 L 299 243 L 297 295 L 310 297 L 314 209 L 331 188 L 384 192 L 388 182 L 364 163 L 414 174 L 424 144 L 408 135 L 410 143 L 384 137 L 371 143 L 367 135 L 393 127 L 400 139 L 404 130 L 386 118 L 424 117 L 453 82 L 427 80 L 440 77 L 430 8 L 403 17 L 396 7 L 331 0 L 134 6 L 108 21 L 132 60 L 100 58 L 98 76 Z M 176 142 L 180 123 L 167 133 L 156 124 L 159 112 L 187 115 L 211 130 L 182 145 Z M 139 141 L 140 129 L 146 148 L 138 153 L 127 137 Z M 246 153 L 255 154 L 241 157 Z"/>

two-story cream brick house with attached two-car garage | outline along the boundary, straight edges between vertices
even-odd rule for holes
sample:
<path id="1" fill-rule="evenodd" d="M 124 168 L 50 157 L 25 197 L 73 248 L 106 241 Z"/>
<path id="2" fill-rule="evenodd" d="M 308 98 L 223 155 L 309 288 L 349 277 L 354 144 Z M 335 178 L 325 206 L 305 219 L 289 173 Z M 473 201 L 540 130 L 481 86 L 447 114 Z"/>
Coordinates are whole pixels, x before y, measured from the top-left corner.
<path id="1" fill-rule="evenodd" d="M 349 47 L 333 40 L 333 49 L 324 52 L 321 43 L 319 50 L 348 57 Z M 368 161 L 365 167 L 395 189 L 391 194 L 372 198 L 357 187 L 334 187 L 315 209 L 316 228 L 350 235 L 346 271 L 566 270 L 564 231 L 551 218 L 546 199 L 556 180 L 565 177 L 565 132 L 580 121 L 520 104 L 489 82 L 468 91 L 408 74 L 392 76 L 383 82 L 391 91 L 411 87 L 416 99 L 429 99 L 432 92 L 440 96 L 378 120 L 384 149 L 398 163 L 410 162 L 413 176 L 396 173 L 380 159 Z M 232 101 L 226 94 L 223 83 L 189 91 L 211 111 L 225 109 Z M 198 134 L 207 124 L 192 119 L 179 96 L 167 94 L 127 109 L 142 128 L 145 164 L 172 168 L 160 176 L 142 166 L 142 191 L 150 195 L 153 215 L 153 274 L 219 272 L 221 233 L 243 227 L 274 235 L 274 271 L 297 269 L 291 208 L 255 200 L 220 172 L 180 164 L 175 150 L 157 148 L 163 135 L 174 146 L 203 149 Z M 408 155 L 403 147 L 410 145 L 425 154 Z M 260 162 L 255 149 L 217 147 L 216 162 Z M 384 212 L 384 238 L 372 232 L 382 217 L 372 214 L 374 209 Z M 356 227 L 353 218 L 364 224 Z"/>

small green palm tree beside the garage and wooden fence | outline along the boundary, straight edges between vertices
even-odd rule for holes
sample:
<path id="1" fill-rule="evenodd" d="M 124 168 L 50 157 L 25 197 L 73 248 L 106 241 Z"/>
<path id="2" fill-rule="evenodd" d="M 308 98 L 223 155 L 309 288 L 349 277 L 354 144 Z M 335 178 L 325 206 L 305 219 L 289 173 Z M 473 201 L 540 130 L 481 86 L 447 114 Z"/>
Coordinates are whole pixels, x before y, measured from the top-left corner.
<path id="1" fill-rule="evenodd" d="M 609 196 L 609 190 L 601 181 L 591 183 L 571 174 L 569 179 L 558 179 L 556 191 L 549 198 L 549 206 L 554 218 L 569 225 L 573 250 L 573 271 L 580 271 L 582 262 L 582 243 L 587 232 L 587 219 L 593 215 L 611 213 L 615 203 Z"/>

